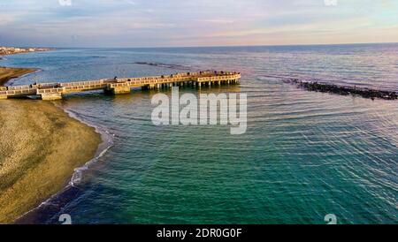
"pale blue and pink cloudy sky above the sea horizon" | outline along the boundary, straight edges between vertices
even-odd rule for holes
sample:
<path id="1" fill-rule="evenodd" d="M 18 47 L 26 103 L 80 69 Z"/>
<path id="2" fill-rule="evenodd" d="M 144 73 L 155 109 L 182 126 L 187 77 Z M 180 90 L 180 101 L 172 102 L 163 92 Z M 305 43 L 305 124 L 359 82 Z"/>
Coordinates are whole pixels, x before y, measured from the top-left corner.
<path id="1" fill-rule="evenodd" d="M 0 46 L 398 42 L 398 0 L 0 0 Z"/>

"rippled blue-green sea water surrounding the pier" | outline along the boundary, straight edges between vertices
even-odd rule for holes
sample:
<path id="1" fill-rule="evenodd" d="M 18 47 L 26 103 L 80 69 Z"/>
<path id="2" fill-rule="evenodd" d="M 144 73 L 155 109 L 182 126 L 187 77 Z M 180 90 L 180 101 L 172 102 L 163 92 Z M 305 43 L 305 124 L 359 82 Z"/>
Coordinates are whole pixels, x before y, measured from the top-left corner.
<path id="1" fill-rule="evenodd" d="M 200 92 L 248 95 L 241 135 L 231 135 L 230 126 L 152 125 L 155 91 L 56 102 L 111 132 L 113 146 L 41 223 L 58 223 L 63 213 L 73 223 L 325 223 L 326 214 L 338 223 L 398 222 L 398 102 L 307 92 L 280 81 L 398 91 L 398 44 L 58 49 L 1 64 L 42 69 L 15 85 L 233 70 L 242 74 L 240 86 Z M 199 94 L 180 90 L 187 92 Z"/>

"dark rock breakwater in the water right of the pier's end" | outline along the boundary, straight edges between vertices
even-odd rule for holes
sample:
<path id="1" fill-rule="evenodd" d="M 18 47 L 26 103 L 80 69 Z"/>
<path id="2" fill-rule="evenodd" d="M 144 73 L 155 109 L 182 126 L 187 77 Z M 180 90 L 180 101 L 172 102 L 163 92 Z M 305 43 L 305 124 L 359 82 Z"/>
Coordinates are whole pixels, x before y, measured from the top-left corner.
<path id="1" fill-rule="evenodd" d="M 360 95 L 364 98 L 375 98 L 396 100 L 398 94 L 392 91 L 382 91 L 369 88 L 358 88 L 358 87 L 343 87 L 333 84 L 318 83 L 317 81 L 302 81 L 301 79 L 284 79 L 284 82 L 292 83 L 298 87 L 302 87 L 308 91 L 316 91 L 322 93 L 332 93 L 338 95 Z"/>

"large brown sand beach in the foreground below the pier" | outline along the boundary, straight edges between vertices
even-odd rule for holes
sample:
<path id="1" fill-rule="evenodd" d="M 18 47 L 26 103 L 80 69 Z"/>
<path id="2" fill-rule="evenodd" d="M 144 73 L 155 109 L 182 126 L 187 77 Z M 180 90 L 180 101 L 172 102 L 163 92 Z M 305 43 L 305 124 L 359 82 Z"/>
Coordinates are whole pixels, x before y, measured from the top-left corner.
<path id="1" fill-rule="evenodd" d="M 60 191 L 101 137 L 50 102 L 0 101 L 0 223 Z"/>

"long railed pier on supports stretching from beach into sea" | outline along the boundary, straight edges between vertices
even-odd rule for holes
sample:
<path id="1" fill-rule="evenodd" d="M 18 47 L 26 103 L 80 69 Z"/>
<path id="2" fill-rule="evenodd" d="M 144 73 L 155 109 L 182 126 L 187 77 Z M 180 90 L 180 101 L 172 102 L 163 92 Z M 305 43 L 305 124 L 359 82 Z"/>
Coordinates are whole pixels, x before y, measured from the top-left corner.
<path id="1" fill-rule="evenodd" d="M 11 97 L 40 96 L 42 100 L 62 99 L 70 93 L 103 90 L 111 94 L 127 94 L 133 87 L 160 89 L 173 86 L 214 86 L 236 83 L 239 72 L 187 72 L 142 78 L 98 79 L 73 82 L 37 83 L 27 86 L 0 87 L 0 99 Z"/>

